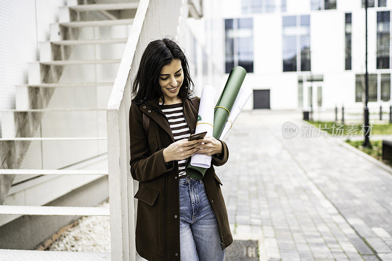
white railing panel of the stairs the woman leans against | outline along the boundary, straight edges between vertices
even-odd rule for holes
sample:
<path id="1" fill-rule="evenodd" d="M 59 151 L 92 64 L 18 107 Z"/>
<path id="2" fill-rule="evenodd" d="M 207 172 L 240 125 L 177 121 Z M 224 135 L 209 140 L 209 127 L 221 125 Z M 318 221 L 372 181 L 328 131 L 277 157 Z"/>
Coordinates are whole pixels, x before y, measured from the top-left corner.
<path id="1" fill-rule="evenodd" d="M 130 175 L 129 108 L 132 81 L 151 40 L 175 37 L 182 0 L 140 0 L 106 110 L 110 196 L 111 259 L 136 260 L 138 182 Z M 168 15 L 170 14 L 170 15 Z"/>

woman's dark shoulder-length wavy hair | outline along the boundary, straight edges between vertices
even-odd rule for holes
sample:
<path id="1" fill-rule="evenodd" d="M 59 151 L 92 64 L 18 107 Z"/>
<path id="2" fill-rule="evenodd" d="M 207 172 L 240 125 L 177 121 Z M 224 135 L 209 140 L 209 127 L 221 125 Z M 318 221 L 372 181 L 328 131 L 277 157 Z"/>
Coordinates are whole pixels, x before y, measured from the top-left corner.
<path id="1" fill-rule="evenodd" d="M 171 39 L 163 38 L 150 42 L 143 51 L 138 72 L 133 80 L 132 101 L 137 103 L 149 100 L 151 98 L 161 97 L 165 103 L 161 86 L 159 84 L 159 73 L 162 67 L 168 65 L 174 59 L 181 60 L 184 80 L 179 93 L 188 95 L 194 89 L 194 83 L 189 74 L 189 66 L 181 48 Z M 192 85 L 192 89 L 191 89 Z"/>

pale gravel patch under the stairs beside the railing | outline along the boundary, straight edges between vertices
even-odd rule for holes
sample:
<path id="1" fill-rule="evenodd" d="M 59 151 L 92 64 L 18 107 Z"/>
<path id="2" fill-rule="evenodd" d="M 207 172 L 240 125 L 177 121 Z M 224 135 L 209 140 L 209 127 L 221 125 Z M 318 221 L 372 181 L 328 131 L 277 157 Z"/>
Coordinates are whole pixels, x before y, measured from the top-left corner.
<path id="1" fill-rule="evenodd" d="M 109 198 L 97 207 L 109 207 Z M 82 216 L 46 250 L 110 252 L 110 217 Z"/>

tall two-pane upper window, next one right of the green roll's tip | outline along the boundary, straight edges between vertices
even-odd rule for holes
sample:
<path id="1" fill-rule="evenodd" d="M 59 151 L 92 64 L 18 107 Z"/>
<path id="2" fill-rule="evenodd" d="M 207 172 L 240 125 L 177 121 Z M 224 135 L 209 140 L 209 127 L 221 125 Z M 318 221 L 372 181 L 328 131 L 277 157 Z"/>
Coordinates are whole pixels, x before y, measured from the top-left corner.
<path id="1" fill-rule="evenodd" d="M 310 71 L 310 56 L 310 16 L 283 17 L 283 71 Z"/>

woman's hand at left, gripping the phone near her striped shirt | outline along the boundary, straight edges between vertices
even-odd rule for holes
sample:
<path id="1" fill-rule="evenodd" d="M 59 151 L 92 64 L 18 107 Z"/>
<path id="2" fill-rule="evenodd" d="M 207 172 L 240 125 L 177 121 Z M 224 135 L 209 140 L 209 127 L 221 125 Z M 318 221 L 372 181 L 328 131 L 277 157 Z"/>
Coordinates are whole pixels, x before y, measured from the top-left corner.
<path id="1" fill-rule="evenodd" d="M 163 161 L 168 163 L 170 161 L 185 160 L 197 153 L 197 150 L 199 150 L 198 145 L 200 144 L 197 140 L 189 142 L 188 139 L 173 142 L 163 150 Z"/>

